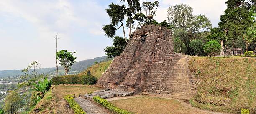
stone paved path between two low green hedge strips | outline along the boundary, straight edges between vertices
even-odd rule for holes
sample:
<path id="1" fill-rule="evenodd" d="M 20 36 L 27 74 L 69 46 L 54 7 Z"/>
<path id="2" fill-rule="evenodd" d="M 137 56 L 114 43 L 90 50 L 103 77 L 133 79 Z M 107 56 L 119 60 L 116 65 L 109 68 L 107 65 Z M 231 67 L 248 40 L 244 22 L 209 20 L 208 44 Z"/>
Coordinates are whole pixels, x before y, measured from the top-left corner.
<path id="1" fill-rule="evenodd" d="M 86 112 L 86 114 L 108 114 L 103 107 L 95 104 L 95 102 L 90 101 L 88 99 L 84 99 L 82 97 L 76 97 L 74 100 L 80 105 L 82 109 Z"/>

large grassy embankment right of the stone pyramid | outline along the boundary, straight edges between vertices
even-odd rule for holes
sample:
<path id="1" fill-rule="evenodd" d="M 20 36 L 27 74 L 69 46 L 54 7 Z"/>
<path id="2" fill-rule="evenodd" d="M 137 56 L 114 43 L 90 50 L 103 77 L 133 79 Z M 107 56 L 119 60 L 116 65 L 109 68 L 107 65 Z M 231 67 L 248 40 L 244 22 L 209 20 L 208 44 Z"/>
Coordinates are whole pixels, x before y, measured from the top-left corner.
<path id="1" fill-rule="evenodd" d="M 215 112 L 256 113 L 256 59 L 192 57 L 189 68 L 196 74 L 197 94 L 192 106 Z"/>

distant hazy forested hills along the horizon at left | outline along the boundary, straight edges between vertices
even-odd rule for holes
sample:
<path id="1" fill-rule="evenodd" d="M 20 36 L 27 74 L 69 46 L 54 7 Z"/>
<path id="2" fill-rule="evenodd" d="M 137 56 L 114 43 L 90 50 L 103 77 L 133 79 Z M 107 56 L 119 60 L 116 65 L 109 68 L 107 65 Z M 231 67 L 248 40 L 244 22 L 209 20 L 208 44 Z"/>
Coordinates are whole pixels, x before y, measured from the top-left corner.
<path id="1" fill-rule="evenodd" d="M 87 67 L 90 67 L 94 64 L 95 61 L 97 62 L 102 62 L 106 61 L 107 56 L 102 56 L 102 57 L 96 57 L 94 59 L 88 59 L 88 60 L 82 60 L 75 62 L 70 71 L 69 74 L 78 74 L 79 72 L 84 71 L 84 69 L 87 69 Z M 26 67 L 26 66 L 24 66 Z M 42 68 L 38 72 L 39 74 L 49 74 L 49 75 L 54 75 L 56 74 L 56 67 L 52 68 Z M 19 76 L 24 74 L 21 70 L 1 70 L 0 71 L 0 77 L 8 77 L 8 76 Z M 59 67 L 59 74 L 63 75 L 64 74 L 64 68 Z"/>

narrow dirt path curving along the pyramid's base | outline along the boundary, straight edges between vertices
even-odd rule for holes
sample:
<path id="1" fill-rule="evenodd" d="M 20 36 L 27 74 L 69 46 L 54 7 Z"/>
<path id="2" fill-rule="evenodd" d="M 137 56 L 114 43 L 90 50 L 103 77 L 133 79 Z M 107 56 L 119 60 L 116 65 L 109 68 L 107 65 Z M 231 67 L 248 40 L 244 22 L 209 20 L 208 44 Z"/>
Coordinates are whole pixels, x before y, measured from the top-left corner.
<path id="1" fill-rule="evenodd" d="M 143 96 L 145 96 L 145 95 L 134 95 L 134 96 L 127 96 L 127 97 L 114 97 L 114 98 L 107 99 L 107 101 L 115 101 L 115 100 L 121 100 L 121 99 L 137 98 L 137 97 L 143 97 Z M 159 98 L 164 98 L 164 99 L 177 100 L 184 107 L 187 107 L 187 108 L 192 109 L 192 110 L 197 111 L 197 112 L 202 112 L 204 114 L 225 114 L 225 113 L 212 112 L 212 111 L 208 111 L 208 110 L 198 109 L 198 108 L 192 107 L 187 102 L 184 102 L 183 100 L 179 100 L 179 99 L 173 99 L 173 98 L 168 98 L 168 97 L 160 97 L 160 96 L 150 96 L 150 97 L 159 97 Z"/>

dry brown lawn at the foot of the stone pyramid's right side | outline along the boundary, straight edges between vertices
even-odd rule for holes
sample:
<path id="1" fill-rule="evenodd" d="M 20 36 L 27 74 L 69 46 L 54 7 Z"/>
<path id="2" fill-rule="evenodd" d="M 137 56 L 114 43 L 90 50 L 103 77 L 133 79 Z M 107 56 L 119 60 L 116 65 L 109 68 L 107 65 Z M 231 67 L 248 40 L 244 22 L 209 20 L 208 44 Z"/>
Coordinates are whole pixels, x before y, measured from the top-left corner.
<path id="1" fill-rule="evenodd" d="M 143 96 L 110 102 L 134 114 L 208 114 L 185 107 L 177 100 L 159 97 Z"/>

